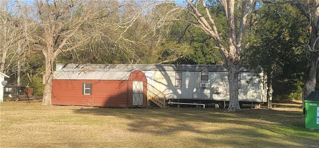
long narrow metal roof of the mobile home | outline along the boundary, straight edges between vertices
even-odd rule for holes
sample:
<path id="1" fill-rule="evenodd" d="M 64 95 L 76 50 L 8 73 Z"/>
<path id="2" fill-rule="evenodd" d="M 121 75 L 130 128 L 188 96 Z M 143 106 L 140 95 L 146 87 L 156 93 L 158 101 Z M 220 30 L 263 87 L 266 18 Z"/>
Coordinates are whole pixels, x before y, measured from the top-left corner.
<path id="1" fill-rule="evenodd" d="M 139 69 L 141 71 L 227 72 L 222 65 L 56 64 L 56 69 Z M 241 68 L 240 72 L 250 72 Z"/>

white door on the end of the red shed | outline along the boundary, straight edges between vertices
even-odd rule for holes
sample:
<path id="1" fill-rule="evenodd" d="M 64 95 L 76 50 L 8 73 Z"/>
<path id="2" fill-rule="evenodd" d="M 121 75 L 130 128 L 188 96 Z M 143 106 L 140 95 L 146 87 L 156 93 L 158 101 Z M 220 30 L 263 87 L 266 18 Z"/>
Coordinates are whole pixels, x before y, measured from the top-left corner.
<path id="1" fill-rule="evenodd" d="M 143 105 L 143 81 L 133 81 L 133 105 Z"/>

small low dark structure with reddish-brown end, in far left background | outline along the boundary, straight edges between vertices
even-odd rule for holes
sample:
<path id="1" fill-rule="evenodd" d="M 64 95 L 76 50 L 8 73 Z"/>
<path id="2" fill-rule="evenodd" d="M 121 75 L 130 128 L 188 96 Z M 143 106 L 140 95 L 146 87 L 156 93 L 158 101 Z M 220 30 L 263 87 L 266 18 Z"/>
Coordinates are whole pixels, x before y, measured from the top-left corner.
<path id="1" fill-rule="evenodd" d="M 15 86 L 15 85 L 6 85 L 4 86 L 3 97 L 10 100 L 19 100 L 19 99 L 31 99 L 33 96 L 33 87 L 30 86 Z"/>

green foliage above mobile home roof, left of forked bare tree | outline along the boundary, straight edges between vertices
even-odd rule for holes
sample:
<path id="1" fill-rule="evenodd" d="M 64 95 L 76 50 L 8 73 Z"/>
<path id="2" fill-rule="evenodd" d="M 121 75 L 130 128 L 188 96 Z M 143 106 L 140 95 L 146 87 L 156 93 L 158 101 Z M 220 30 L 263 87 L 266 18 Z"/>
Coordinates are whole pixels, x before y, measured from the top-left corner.
<path id="1" fill-rule="evenodd" d="M 184 22 L 174 22 L 169 33 L 168 42 L 172 43 L 173 40 L 174 44 L 185 48 L 179 53 L 180 56 L 174 64 L 221 63 L 221 56 L 219 50 L 214 48 L 214 41 L 201 29 Z"/>

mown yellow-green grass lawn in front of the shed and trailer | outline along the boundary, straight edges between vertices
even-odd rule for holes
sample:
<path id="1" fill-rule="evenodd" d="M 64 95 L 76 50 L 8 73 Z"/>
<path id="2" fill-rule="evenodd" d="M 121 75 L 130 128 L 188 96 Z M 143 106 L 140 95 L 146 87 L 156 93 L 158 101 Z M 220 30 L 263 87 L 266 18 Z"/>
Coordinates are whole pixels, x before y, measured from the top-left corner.
<path id="1" fill-rule="evenodd" d="M 301 104 L 272 110 L 93 108 L 0 103 L 1 148 L 319 148 Z"/>

